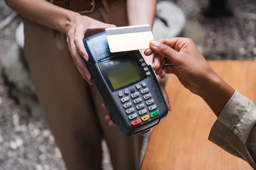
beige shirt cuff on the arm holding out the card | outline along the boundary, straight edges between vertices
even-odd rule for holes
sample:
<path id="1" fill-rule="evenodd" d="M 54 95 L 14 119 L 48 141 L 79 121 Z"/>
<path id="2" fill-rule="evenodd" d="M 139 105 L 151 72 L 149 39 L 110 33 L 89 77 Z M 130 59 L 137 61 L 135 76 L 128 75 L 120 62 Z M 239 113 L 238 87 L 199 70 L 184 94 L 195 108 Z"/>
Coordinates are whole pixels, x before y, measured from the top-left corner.
<path id="1" fill-rule="evenodd" d="M 255 105 L 250 99 L 235 91 L 212 126 L 209 140 L 222 147 L 225 138 L 232 132 L 245 144 L 256 123 Z"/>

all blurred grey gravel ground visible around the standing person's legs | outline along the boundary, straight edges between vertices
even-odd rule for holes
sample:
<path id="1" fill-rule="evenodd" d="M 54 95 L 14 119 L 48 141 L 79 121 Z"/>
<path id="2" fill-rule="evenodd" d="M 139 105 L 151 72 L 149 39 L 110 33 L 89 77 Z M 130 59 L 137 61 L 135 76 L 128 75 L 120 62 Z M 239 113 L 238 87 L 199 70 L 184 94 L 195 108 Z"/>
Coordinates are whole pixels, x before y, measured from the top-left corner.
<path id="1" fill-rule="evenodd" d="M 200 14 L 205 0 L 178 0 L 187 20 L 199 23 L 206 31 L 203 42 L 207 59 L 255 59 L 256 3 L 253 0 L 232 0 L 235 13 L 231 18 L 209 19 Z M 11 10 L 0 0 L 0 21 Z M 0 61 L 15 43 L 15 28 L 21 17 L 0 30 Z M 0 65 L 1 67 L 1 65 Z M 1 72 L 0 72 L 1 74 Z M 55 145 L 44 117 L 34 117 L 9 97 L 9 87 L 0 77 L 0 169 L 2 170 L 64 170 L 61 153 Z M 103 143 L 103 148 L 106 146 Z M 111 170 L 109 155 L 104 153 L 103 165 Z"/>

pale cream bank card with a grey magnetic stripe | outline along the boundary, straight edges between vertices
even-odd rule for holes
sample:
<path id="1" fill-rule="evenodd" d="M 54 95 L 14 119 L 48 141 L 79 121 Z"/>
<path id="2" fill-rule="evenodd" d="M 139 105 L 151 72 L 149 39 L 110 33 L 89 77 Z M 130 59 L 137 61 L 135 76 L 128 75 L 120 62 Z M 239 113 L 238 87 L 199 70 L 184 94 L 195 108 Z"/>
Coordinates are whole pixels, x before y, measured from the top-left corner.
<path id="1" fill-rule="evenodd" d="M 154 40 L 149 25 L 125 26 L 105 29 L 111 53 L 149 48 Z"/>

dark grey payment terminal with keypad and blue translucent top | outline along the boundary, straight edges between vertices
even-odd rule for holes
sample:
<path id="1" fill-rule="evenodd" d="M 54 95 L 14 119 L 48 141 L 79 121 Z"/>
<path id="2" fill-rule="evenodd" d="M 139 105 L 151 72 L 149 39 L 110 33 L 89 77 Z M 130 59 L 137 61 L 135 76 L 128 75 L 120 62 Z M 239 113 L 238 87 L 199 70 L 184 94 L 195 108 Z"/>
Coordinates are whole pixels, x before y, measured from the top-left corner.
<path id="1" fill-rule="evenodd" d="M 92 80 L 123 134 L 141 133 L 166 117 L 160 86 L 140 51 L 111 53 L 105 31 L 85 38 L 84 46 Z"/>

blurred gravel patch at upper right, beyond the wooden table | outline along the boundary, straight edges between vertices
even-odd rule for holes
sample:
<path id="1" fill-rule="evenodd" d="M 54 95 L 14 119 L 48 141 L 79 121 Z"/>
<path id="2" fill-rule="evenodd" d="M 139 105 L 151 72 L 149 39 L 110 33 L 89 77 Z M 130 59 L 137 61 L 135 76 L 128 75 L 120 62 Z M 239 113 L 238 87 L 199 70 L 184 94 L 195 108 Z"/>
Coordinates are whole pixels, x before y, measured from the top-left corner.
<path id="1" fill-rule="evenodd" d="M 200 14 L 206 0 L 178 0 L 187 20 L 206 30 L 207 59 L 256 59 L 256 2 L 230 0 L 234 17 L 206 18 Z"/>

